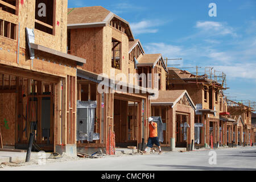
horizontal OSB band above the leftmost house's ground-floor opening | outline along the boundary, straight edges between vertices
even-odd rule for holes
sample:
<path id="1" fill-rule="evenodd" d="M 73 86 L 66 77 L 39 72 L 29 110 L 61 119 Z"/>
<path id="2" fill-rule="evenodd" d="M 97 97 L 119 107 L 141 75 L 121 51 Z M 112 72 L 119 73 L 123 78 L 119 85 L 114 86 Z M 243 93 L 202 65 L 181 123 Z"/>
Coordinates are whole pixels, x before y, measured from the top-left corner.
<path id="1" fill-rule="evenodd" d="M 19 64 L 17 61 L 17 42 L 15 40 L 0 37 L 0 63 L 31 69 L 42 73 L 49 73 L 55 76 L 71 75 L 76 76 L 76 63 L 61 59 L 45 52 L 35 50 L 35 59 L 31 61 L 26 49 L 19 49 Z M 38 59 L 39 58 L 39 59 Z"/>

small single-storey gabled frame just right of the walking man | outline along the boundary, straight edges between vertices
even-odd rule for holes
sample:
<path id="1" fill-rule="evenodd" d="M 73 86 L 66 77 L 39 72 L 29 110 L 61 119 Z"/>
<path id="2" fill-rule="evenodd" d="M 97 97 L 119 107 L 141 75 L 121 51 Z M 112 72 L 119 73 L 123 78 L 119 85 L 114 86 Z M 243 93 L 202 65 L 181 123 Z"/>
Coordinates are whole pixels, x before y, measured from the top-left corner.
<path id="1" fill-rule="evenodd" d="M 151 100 L 151 115 L 162 117 L 166 125 L 162 146 L 171 147 L 171 151 L 175 147 L 193 150 L 195 109 L 186 90 L 159 91 L 159 97 Z"/>

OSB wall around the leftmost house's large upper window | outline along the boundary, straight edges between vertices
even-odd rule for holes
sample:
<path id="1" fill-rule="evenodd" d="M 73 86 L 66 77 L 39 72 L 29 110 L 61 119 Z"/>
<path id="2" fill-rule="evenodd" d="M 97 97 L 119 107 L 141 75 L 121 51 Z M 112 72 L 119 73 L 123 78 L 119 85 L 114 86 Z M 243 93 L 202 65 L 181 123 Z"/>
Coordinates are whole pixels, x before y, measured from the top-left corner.
<path id="1" fill-rule="evenodd" d="M 35 0 L 24 1 L 19 5 L 19 23 L 20 23 L 20 47 L 26 48 L 26 27 L 35 27 Z M 61 52 L 67 52 L 67 15 L 68 1 L 56 0 L 56 21 L 55 35 L 50 35 L 35 29 L 35 43 L 41 46 L 55 49 Z M 57 25 L 59 22 L 59 26 Z"/>

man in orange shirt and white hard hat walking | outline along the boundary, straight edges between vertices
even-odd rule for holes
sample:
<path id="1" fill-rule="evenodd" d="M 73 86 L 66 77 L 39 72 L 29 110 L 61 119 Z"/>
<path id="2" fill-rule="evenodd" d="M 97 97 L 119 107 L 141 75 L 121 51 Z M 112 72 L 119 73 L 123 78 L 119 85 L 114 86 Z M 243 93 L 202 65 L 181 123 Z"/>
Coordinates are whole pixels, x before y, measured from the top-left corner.
<path id="1" fill-rule="evenodd" d="M 151 148 L 153 147 L 153 145 L 155 144 L 156 146 L 158 146 L 159 148 L 159 154 L 162 154 L 162 150 L 161 150 L 161 146 L 159 143 L 159 138 L 158 138 L 158 124 L 153 122 L 153 118 L 148 118 L 148 126 L 150 129 L 150 136 L 148 138 L 148 142 L 147 142 L 147 147 L 144 151 L 142 151 L 143 154 L 146 154 L 148 149 L 149 152 L 151 150 Z"/>

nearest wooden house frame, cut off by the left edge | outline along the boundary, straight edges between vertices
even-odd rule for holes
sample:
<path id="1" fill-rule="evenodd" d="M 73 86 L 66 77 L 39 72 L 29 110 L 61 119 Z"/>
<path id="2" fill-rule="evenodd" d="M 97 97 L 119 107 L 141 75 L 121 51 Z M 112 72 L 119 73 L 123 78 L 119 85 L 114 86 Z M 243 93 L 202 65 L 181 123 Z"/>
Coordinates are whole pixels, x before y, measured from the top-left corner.
<path id="1" fill-rule="evenodd" d="M 52 24 L 35 18 L 35 0 L 12 2 L 16 3 L 0 2 L 3 144 L 27 148 L 33 130 L 42 150 L 76 155 L 76 69 L 86 61 L 67 54 L 68 1 L 55 0 L 49 5 L 53 8 Z M 28 42 L 26 28 L 34 30 L 35 42 Z M 34 51 L 34 59 L 28 46 Z M 51 103 L 47 105 L 49 133 L 43 128 L 45 100 Z"/>

